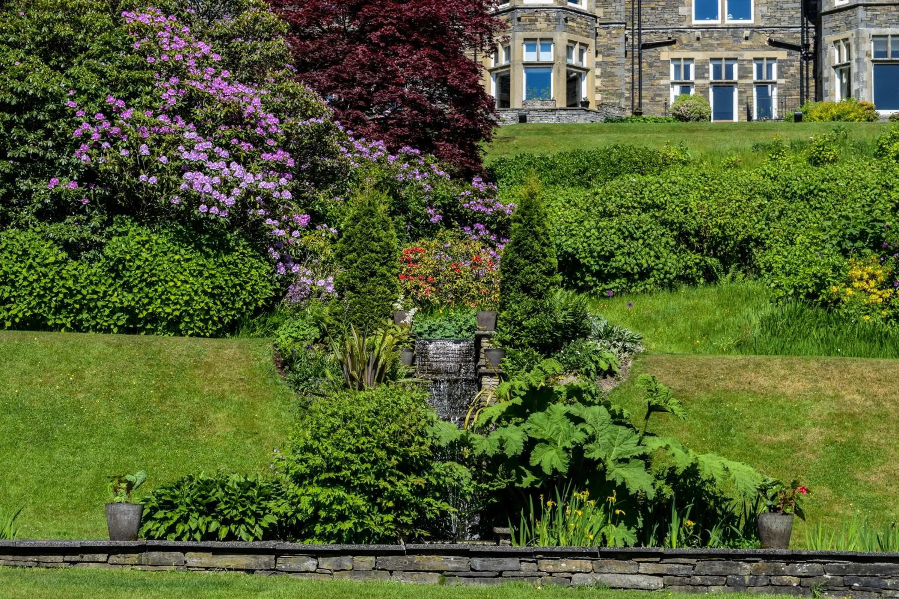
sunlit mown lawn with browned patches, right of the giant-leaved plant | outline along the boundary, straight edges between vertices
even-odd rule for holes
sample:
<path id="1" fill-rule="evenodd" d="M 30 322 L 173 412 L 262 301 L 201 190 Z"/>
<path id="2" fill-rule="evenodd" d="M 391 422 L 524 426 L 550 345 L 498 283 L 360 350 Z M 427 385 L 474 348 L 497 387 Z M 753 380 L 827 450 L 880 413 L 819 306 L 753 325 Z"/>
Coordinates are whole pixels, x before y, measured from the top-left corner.
<path id="1" fill-rule="evenodd" d="M 651 430 L 802 480 L 812 489 L 809 523 L 899 515 L 899 360 L 647 354 L 612 392 L 636 418 L 645 413 L 640 373 L 670 385 L 688 413 L 656 415 Z M 804 545 L 805 525 L 793 543 Z"/>

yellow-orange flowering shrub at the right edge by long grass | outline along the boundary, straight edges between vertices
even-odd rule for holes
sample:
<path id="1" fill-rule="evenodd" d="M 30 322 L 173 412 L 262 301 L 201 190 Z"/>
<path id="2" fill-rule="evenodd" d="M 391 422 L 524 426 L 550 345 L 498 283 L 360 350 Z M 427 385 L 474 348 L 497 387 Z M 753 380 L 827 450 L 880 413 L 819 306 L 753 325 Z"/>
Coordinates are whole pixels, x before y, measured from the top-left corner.
<path id="1" fill-rule="evenodd" d="M 846 279 L 831 286 L 831 301 L 842 313 L 865 322 L 891 322 L 899 316 L 895 258 L 851 259 Z"/>

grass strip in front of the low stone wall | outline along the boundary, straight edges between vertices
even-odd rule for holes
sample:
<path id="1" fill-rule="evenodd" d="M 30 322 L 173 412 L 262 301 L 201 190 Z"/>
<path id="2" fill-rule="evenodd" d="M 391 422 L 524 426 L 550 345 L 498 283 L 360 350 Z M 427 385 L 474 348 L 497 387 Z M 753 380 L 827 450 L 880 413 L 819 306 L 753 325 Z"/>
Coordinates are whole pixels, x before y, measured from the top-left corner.
<path id="1" fill-rule="evenodd" d="M 313 582 L 290 577 L 199 572 L 0 568 L 0 596 L 4 599 L 671 599 L 681 595 L 587 587 L 537 588 L 522 583 L 457 587 L 337 580 Z"/>

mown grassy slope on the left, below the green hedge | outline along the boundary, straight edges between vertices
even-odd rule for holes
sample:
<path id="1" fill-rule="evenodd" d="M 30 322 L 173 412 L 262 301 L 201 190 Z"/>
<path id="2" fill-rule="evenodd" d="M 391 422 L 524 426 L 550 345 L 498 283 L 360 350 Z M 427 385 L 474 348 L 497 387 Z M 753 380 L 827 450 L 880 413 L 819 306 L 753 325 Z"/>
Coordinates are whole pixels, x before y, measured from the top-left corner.
<path id="1" fill-rule="evenodd" d="M 22 538 L 97 538 L 109 474 L 261 471 L 292 410 L 271 364 L 256 340 L 0 332 L 0 507 Z"/>

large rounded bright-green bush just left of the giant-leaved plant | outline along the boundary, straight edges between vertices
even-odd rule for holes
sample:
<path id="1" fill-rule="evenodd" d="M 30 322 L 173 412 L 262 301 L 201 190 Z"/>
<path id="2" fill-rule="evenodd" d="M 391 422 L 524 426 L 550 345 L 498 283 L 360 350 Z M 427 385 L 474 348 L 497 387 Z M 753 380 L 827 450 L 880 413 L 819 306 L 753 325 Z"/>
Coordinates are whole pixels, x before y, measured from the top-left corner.
<path id="1" fill-rule="evenodd" d="M 449 506 L 433 457 L 427 393 L 396 385 L 316 399 L 279 470 L 304 542 L 378 543 L 423 536 Z"/>

